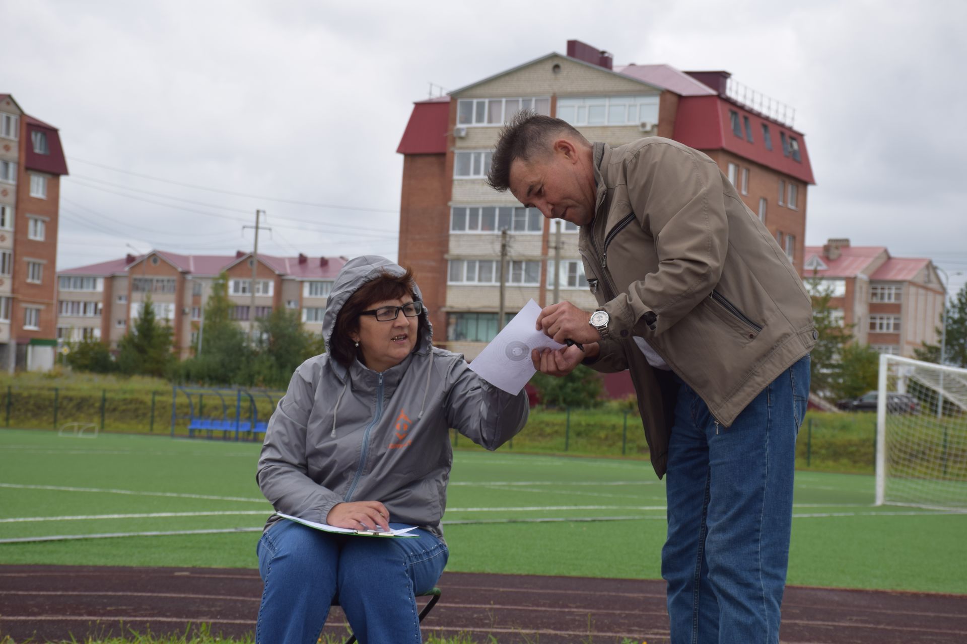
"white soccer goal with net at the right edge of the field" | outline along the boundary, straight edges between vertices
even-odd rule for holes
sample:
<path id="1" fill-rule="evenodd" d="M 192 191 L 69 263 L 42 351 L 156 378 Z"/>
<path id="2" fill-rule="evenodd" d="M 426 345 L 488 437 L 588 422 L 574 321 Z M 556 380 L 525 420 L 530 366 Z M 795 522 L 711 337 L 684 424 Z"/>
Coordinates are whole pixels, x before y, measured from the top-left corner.
<path id="1" fill-rule="evenodd" d="M 876 504 L 967 512 L 967 369 L 880 356 Z"/>

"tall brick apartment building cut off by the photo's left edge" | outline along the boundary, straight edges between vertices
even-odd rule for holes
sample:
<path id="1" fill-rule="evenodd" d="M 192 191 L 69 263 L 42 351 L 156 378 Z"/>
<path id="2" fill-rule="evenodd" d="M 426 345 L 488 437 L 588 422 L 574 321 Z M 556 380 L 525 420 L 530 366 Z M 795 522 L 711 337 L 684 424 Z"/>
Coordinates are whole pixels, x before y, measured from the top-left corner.
<path id="1" fill-rule="evenodd" d="M 0 369 L 45 371 L 56 350 L 57 128 L 0 94 Z"/>

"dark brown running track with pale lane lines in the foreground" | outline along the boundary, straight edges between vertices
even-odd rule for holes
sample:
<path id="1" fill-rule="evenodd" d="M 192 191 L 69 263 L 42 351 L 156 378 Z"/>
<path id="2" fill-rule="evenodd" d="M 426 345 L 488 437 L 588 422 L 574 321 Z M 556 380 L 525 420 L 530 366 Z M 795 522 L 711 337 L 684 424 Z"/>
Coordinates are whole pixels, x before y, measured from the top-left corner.
<path id="1" fill-rule="evenodd" d="M 660 581 L 445 573 L 439 586 L 425 633 L 501 643 L 667 641 Z M 0 638 L 183 633 L 189 623 L 241 636 L 254 630 L 261 590 L 256 571 L 239 569 L 0 566 Z M 782 615 L 783 642 L 967 642 L 962 595 L 789 587 Z M 334 609 L 326 630 L 345 632 L 344 624 Z"/>

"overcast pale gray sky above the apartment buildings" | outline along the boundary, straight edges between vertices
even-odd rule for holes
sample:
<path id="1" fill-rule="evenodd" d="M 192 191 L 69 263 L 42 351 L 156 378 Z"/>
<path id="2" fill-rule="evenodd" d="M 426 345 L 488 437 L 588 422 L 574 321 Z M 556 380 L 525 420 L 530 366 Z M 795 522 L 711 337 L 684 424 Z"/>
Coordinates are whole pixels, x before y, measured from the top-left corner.
<path id="1" fill-rule="evenodd" d="M 967 282 L 961 0 L 349 4 L 0 0 L 0 93 L 68 156 L 58 268 L 126 244 L 249 249 L 257 208 L 264 252 L 396 258 L 412 101 L 578 39 L 793 106 L 817 182 L 806 243 L 885 245 Z"/>

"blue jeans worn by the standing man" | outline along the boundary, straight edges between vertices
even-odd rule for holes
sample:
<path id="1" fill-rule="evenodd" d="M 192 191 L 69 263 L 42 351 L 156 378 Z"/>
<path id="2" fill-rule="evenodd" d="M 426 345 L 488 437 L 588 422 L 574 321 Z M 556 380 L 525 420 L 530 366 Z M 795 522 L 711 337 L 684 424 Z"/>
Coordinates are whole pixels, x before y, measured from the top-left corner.
<path id="1" fill-rule="evenodd" d="M 809 356 L 773 380 L 731 427 L 681 383 L 668 443 L 672 644 L 776 644 L 789 562 L 796 436 Z"/>

